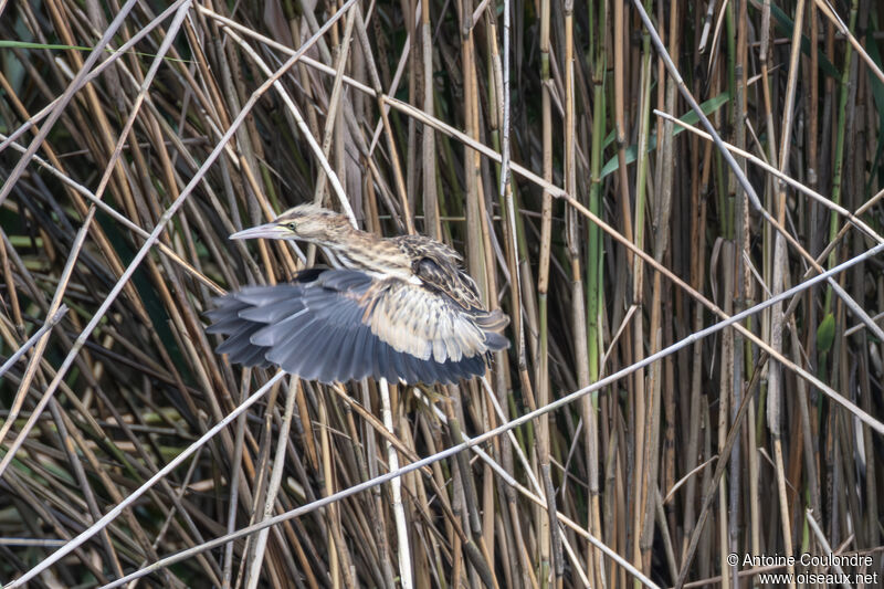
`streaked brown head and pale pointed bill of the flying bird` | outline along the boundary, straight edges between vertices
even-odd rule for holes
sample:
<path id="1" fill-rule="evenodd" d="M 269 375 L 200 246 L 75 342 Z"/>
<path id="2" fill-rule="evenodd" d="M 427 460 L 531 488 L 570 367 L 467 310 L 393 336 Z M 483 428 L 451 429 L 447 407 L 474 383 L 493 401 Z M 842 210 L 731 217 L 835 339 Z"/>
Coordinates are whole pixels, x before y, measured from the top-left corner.
<path id="1" fill-rule="evenodd" d="M 340 213 L 316 204 L 298 204 L 273 222 L 244 229 L 233 233 L 230 239 L 301 240 L 323 245 L 337 242 L 343 233 L 351 229 L 350 222 Z"/>

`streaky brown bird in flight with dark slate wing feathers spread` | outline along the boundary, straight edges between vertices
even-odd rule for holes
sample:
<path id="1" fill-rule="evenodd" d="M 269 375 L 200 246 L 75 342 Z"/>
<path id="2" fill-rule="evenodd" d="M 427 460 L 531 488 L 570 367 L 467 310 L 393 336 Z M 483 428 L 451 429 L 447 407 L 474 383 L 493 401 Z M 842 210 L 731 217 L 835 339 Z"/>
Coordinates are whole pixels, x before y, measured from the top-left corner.
<path id="1" fill-rule="evenodd" d="M 288 283 L 214 299 L 208 333 L 232 362 L 276 365 L 305 380 L 454 383 L 485 374 L 509 347 L 509 318 L 486 309 L 462 256 L 423 235 L 382 238 L 316 204 L 230 235 L 314 243 L 329 265 Z"/>

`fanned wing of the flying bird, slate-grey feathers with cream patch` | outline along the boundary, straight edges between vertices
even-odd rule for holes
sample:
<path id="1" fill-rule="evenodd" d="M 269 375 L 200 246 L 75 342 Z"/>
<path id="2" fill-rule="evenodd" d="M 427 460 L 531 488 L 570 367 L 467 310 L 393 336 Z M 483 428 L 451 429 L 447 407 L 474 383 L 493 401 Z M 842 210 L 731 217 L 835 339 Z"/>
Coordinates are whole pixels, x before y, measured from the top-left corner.
<path id="1" fill-rule="evenodd" d="M 229 336 L 219 353 L 323 382 L 453 382 L 483 374 L 485 355 L 508 345 L 498 315 L 464 313 L 444 295 L 356 270 L 307 271 L 217 305 L 207 330 Z"/>

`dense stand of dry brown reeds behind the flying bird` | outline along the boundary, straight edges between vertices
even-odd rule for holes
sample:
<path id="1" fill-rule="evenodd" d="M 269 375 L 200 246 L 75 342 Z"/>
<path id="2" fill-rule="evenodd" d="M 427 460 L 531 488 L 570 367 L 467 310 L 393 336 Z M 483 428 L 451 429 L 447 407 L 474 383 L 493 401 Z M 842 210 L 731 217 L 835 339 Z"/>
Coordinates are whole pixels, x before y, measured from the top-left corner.
<path id="1" fill-rule="evenodd" d="M 0 1 L 0 580 L 882 571 L 880 3 L 122 3 Z M 213 353 L 211 298 L 303 263 L 227 236 L 314 199 L 464 253 L 485 381 L 390 387 L 389 435 L 375 382 Z M 355 488 L 394 462 L 401 506 Z"/>

